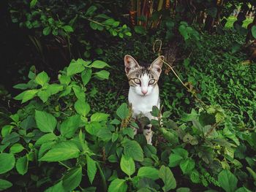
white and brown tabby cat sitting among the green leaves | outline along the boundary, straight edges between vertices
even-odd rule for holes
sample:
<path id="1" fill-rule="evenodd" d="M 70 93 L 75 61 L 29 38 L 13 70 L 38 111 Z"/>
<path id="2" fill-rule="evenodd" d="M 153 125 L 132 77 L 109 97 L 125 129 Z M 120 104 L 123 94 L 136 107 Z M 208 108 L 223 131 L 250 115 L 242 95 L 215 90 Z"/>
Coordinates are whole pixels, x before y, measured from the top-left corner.
<path id="1" fill-rule="evenodd" d="M 140 66 L 131 55 L 124 56 L 125 72 L 129 82 L 128 101 L 132 105 L 132 118 L 137 119 L 143 115 L 149 120 L 155 118 L 151 115 L 152 107 L 160 108 L 159 87 L 157 82 L 162 72 L 164 56 L 159 56 L 148 66 Z M 137 128 L 134 128 L 137 134 Z M 143 129 L 147 143 L 152 145 L 153 132 L 151 125 Z"/>

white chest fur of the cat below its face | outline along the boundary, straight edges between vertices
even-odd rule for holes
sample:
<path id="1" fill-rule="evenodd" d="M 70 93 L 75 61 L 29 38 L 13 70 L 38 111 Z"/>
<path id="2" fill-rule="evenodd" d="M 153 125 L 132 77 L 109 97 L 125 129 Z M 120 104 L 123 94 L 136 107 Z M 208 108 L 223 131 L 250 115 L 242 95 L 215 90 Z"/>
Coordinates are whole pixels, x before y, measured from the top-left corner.
<path id="1" fill-rule="evenodd" d="M 132 104 L 132 118 L 136 118 L 138 115 L 142 114 L 151 119 L 152 116 L 150 112 L 152 111 L 152 107 L 154 105 L 158 108 L 160 107 L 158 85 L 155 85 L 154 89 L 147 96 L 138 95 L 133 88 L 130 87 L 128 100 L 129 103 Z"/>

